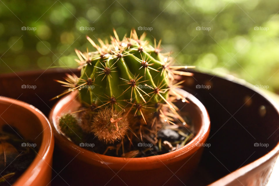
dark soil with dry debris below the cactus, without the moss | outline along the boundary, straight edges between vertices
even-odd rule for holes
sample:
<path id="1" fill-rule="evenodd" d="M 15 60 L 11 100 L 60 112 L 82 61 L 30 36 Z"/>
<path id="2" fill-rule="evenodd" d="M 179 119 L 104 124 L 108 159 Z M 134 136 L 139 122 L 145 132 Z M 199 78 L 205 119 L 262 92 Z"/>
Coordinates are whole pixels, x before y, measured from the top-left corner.
<path id="1" fill-rule="evenodd" d="M 184 117 L 184 119 L 190 126 L 189 128 L 180 123 L 176 126 L 167 124 L 158 131 L 157 136 L 143 135 L 142 140 L 135 135 L 131 136 L 132 144 L 127 137 L 124 138 L 123 142 L 107 144 L 99 141 L 93 134 L 87 134 L 83 143 L 80 141 L 74 143 L 89 151 L 114 157 L 142 158 L 161 155 L 183 147 L 194 138 L 195 133 L 191 127 L 191 120 L 188 117 Z"/>

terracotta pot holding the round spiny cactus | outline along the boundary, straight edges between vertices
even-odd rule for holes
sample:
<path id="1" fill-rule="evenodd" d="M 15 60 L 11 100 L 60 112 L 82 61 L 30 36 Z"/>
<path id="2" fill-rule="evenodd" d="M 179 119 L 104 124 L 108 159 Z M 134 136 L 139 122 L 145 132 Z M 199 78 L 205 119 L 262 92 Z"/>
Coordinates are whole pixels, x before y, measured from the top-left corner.
<path id="1" fill-rule="evenodd" d="M 65 181 L 72 185 L 184 185 L 201 158 L 210 129 L 205 107 L 192 94 L 181 90 L 190 101 L 178 107 L 192 119 L 196 136 L 183 148 L 163 155 L 146 158 L 118 158 L 97 154 L 69 141 L 59 133 L 57 122 L 61 115 L 73 112 L 80 104 L 73 92 L 53 107 L 49 119 L 54 130 L 60 161 L 67 165 Z"/>

